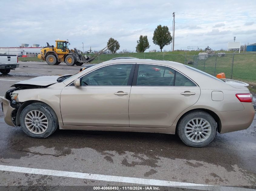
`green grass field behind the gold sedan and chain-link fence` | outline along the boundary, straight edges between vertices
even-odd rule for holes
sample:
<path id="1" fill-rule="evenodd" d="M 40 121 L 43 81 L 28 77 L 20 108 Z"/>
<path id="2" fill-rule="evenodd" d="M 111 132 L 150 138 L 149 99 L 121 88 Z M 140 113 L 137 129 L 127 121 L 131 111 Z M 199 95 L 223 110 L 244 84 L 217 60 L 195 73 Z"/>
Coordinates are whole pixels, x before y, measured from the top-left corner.
<path id="1" fill-rule="evenodd" d="M 126 53 L 126 54 L 101 54 L 91 63 L 101 63 L 117 57 L 135 57 L 139 59 L 158 59 L 169 60 L 180 63 L 188 63 L 193 61 L 191 65 L 204 72 L 216 76 L 220 72 L 224 72 L 226 78 L 240 80 L 250 84 L 251 90 L 256 91 L 256 53 L 251 54 L 234 54 L 231 51 L 221 51 L 226 53 L 225 57 L 216 57 L 213 55 L 204 60 L 198 60 L 197 51 L 175 51 L 160 53 Z M 237 52 L 236 52 L 237 53 Z M 91 54 L 93 56 L 94 54 Z M 18 58 L 19 61 L 41 61 L 37 57 Z M 198 62 L 198 63 L 197 63 Z M 232 66 L 233 62 L 233 66 Z M 197 63 L 197 64 L 196 64 Z M 216 68 L 215 68 L 216 63 Z"/>

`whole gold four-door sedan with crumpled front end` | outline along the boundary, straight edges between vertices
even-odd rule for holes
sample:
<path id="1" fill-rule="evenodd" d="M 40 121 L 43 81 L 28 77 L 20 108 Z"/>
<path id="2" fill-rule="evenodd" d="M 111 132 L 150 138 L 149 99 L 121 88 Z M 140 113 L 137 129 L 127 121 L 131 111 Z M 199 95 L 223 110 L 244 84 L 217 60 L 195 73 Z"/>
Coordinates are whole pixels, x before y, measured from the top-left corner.
<path id="1" fill-rule="evenodd" d="M 177 62 L 115 59 L 66 76 L 13 85 L 2 97 L 5 122 L 32 137 L 59 129 L 177 133 L 189 146 L 248 128 L 248 84 Z"/>

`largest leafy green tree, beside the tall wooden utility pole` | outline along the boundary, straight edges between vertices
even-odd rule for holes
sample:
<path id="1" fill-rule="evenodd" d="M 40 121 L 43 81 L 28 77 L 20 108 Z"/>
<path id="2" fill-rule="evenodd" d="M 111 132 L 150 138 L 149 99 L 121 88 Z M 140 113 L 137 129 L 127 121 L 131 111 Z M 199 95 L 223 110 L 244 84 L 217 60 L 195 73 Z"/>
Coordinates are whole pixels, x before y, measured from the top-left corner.
<path id="1" fill-rule="evenodd" d="M 158 25 L 154 30 L 153 43 L 155 45 L 158 45 L 162 52 L 162 49 L 164 48 L 164 46 L 171 44 L 171 41 L 172 41 L 172 36 L 168 27 L 167 26 L 162 27 L 161 24 Z"/>

